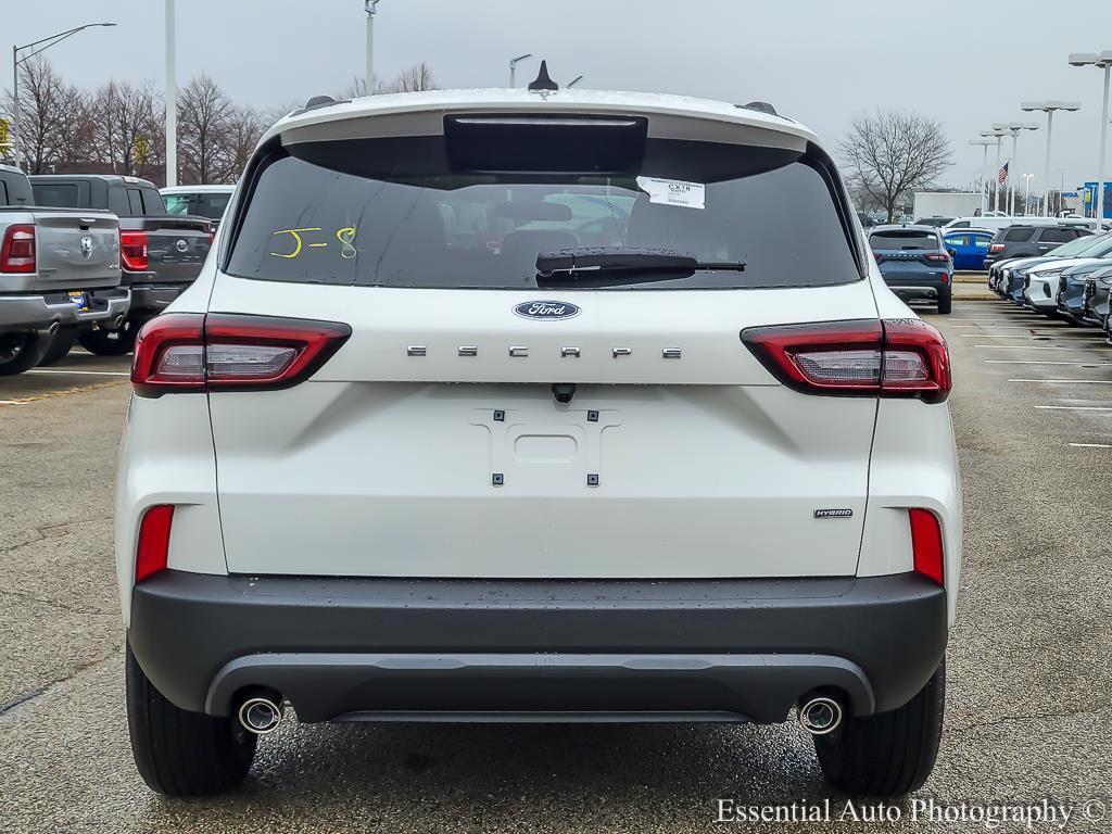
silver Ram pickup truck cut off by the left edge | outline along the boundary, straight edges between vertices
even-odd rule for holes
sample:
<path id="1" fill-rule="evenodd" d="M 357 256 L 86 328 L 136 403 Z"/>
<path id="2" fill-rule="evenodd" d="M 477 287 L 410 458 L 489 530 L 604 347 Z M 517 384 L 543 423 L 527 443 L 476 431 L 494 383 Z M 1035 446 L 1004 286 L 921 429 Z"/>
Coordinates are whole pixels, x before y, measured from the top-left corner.
<path id="1" fill-rule="evenodd" d="M 64 356 L 98 326 L 122 326 L 119 220 L 101 209 L 42 208 L 18 168 L 0 165 L 0 376 Z"/>

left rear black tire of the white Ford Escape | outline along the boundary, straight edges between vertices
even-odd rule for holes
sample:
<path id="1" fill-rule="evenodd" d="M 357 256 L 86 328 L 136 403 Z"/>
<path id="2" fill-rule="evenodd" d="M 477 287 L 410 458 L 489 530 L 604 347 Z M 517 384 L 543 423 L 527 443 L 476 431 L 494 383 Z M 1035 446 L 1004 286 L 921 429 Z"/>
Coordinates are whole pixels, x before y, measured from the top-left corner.
<path id="1" fill-rule="evenodd" d="M 257 738 L 228 717 L 179 709 L 155 688 L 127 648 L 131 754 L 143 782 L 166 796 L 210 796 L 236 787 Z"/>

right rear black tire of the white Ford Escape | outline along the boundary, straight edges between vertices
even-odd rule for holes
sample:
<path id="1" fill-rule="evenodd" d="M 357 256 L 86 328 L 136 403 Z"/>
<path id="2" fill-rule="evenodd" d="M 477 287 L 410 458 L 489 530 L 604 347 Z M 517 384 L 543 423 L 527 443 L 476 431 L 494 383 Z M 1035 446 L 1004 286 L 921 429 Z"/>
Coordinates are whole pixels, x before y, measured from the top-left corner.
<path id="1" fill-rule="evenodd" d="M 830 735 L 815 736 L 827 781 L 860 796 L 904 796 L 934 770 L 942 739 L 946 663 L 898 709 L 850 718 Z"/>

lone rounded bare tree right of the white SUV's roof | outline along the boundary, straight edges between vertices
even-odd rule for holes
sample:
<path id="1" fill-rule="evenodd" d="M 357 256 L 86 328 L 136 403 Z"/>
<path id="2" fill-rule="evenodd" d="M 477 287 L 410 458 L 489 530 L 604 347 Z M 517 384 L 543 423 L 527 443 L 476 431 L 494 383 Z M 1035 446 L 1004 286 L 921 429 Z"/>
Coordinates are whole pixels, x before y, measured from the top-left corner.
<path id="1" fill-rule="evenodd" d="M 892 219 L 912 189 L 929 186 L 950 167 L 950 140 L 934 119 L 909 110 L 862 113 L 842 139 L 851 188 Z"/>

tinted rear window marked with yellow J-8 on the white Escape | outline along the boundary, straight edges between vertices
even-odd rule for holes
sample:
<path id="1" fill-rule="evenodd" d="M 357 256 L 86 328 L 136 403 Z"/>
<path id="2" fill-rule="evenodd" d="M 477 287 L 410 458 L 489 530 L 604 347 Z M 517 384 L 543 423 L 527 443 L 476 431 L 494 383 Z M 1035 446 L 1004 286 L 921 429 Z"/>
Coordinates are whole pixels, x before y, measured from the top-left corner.
<path id="1" fill-rule="evenodd" d="M 254 181 L 227 270 L 278 281 L 525 289 L 537 287 L 538 254 L 604 247 L 746 265 L 606 281 L 622 289 L 861 278 L 827 181 L 798 152 L 644 136 L 607 142 L 598 156 L 582 142 L 495 152 L 502 147 L 454 147 L 438 136 L 279 149 Z M 495 167 L 509 170 L 486 170 Z"/>

